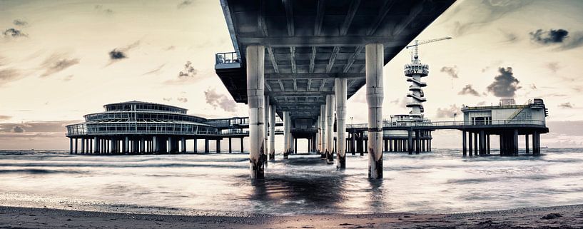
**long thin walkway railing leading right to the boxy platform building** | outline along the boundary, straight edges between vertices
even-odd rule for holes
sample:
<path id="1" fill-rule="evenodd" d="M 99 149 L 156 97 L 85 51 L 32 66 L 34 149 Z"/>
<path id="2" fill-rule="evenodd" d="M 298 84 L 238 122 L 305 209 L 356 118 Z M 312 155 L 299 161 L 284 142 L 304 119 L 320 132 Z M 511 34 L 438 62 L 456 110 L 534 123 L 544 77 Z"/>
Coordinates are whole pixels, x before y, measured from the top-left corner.
<path id="1" fill-rule="evenodd" d="M 436 121 L 436 122 L 393 122 L 384 123 L 383 127 L 425 127 L 425 126 L 508 126 L 508 125 L 534 125 L 544 126 L 544 121 L 532 119 L 518 120 L 492 120 L 492 121 Z M 367 123 L 348 124 L 346 128 L 367 128 Z"/>

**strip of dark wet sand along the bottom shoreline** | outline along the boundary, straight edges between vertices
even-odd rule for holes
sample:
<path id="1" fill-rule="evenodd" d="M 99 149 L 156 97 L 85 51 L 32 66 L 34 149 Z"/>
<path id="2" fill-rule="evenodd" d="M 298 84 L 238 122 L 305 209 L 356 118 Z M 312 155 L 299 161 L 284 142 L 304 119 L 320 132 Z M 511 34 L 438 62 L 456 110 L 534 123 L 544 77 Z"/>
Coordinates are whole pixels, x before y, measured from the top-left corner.
<path id="1" fill-rule="evenodd" d="M 0 207 L 0 228 L 583 228 L 583 205 L 456 214 L 192 216 Z"/>

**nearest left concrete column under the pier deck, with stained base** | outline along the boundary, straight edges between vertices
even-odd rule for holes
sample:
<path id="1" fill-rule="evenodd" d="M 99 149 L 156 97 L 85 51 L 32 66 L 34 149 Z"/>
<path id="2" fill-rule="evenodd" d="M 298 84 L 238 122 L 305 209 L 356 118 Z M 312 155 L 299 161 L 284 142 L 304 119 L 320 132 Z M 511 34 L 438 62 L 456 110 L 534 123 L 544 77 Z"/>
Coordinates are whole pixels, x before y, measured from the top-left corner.
<path id="1" fill-rule="evenodd" d="M 263 178 L 265 161 L 265 47 L 247 46 L 247 101 L 249 104 L 249 169 L 251 178 Z"/>

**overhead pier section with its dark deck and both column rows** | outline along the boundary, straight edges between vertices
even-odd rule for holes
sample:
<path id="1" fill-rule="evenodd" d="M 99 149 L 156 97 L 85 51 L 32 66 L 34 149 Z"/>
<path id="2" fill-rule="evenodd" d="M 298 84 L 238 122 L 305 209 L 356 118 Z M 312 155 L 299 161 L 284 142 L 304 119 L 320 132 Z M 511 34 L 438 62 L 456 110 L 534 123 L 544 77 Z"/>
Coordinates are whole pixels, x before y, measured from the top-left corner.
<path id="1" fill-rule="evenodd" d="M 234 51 L 217 54 L 215 69 L 249 107 L 251 178 L 263 178 L 265 136 L 273 136 L 265 125 L 275 113 L 284 158 L 293 139 L 308 138 L 344 169 L 348 144 L 334 138 L 345 133 L 333 130 L 345 129 L 346 101 L 365 85 L 369 177 L 382 178 L 382 68 L 453 2 L 221 0 Z"/>

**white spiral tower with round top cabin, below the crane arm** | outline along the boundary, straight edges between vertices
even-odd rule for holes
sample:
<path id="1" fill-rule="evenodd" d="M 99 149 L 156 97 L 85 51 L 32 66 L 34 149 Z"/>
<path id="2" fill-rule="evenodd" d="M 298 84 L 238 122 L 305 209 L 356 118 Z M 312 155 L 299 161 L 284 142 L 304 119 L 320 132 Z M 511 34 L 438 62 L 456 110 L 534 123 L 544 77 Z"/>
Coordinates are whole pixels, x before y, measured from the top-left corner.
<path id="1" fill-rule="evenodd" d="M 411 108 L 410 114 L 420 115 L 424 112 L 422 103 L 427 101 L 427 98 L 425 98 L 423 88 L 427 86 L 427 83 L 422 82 L 421 79 L 427 75 L 429 75 L 429 66 L 420 63 L 418 59 L 405 64 L 405 76 L 407 76 L 407 82 L 411 82 L 410 93 L 407 93 L 407 97 L 411 98 L 411 101 L 407 103 L 407 107 Z"/>

